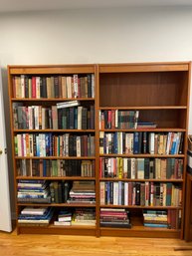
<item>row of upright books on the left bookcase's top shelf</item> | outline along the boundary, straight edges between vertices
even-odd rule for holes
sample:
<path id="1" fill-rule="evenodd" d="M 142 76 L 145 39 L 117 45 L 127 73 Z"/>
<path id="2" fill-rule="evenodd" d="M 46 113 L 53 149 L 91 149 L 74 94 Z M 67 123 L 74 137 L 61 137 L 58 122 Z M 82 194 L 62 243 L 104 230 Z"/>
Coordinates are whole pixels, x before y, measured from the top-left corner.
<path id="1" fill-rule="evenodd" d="M 14 76 L 13 98 L 95 98 L 95 75 Z"/>

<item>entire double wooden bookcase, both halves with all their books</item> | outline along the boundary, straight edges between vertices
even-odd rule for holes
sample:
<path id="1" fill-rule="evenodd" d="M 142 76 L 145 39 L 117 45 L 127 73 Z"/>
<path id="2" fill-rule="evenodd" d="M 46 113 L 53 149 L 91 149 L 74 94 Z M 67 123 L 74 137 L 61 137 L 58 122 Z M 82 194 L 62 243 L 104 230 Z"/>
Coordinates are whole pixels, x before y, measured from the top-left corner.
<path id="1" fill-rule="evenodd" d="M 190 63 L 8 71 L 18 233 L 183 238 Z"/>

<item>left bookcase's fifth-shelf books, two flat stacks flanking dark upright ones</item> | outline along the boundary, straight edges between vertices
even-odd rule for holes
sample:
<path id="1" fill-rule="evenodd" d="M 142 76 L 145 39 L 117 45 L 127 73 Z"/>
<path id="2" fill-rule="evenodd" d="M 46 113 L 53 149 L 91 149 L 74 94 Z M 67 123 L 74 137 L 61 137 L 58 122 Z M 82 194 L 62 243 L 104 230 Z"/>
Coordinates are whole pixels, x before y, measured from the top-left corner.
<path id="1" fill-rule="evenodd" d="M 17 198 L 44 199 L 51 197 L 52 203 L 96 203 L 95 181 L 88 180 L 23 180 L 17 184 Z M 19 200 L 20 201 L 20 200 Z"/>

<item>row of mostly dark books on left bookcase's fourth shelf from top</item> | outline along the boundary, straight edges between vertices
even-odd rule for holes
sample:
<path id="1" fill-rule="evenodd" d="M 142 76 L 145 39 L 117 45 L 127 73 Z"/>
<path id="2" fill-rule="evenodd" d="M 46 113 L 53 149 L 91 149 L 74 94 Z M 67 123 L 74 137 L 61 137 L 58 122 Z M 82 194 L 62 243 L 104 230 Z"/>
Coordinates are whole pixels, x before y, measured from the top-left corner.
<path id="1" fill-rule="evenodd" d="M 95 177 L 95 160 L 50 160 L 50 159 L 17 159 L 18 176 Z"/>

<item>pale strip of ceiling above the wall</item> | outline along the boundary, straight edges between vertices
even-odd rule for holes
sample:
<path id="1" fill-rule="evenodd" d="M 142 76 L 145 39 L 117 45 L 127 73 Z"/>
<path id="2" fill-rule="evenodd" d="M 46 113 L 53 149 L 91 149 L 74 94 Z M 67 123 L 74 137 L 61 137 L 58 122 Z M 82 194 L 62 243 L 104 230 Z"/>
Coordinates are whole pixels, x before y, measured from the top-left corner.
<path id="1" fill-rule="evenodd" d="M 0 12 L 130 6 L 192 6 L 192 0 L 0 0 Z"/>

